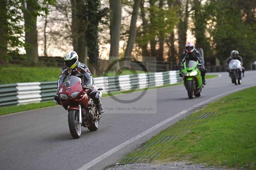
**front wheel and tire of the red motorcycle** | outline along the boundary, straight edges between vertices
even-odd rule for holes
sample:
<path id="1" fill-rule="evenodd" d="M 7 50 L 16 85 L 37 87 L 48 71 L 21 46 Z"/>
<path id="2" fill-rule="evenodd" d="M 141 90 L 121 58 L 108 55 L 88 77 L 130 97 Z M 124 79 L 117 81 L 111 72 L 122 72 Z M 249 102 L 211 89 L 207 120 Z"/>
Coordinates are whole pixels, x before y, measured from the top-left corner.
<path id="1" fill-rule="evenodd" d="M 70 109 L 68 111 L 68 126 L 73 138 L 77 139 L 82 134 L 82 125 L 79 123 L 79 111 Z"/>

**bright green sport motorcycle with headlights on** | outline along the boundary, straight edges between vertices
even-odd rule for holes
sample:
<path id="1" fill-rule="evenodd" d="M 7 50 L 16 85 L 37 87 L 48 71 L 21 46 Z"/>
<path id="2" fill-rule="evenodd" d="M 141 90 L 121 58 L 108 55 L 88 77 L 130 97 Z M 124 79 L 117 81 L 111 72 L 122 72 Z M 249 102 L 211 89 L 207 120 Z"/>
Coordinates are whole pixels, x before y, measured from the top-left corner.
<path id="1" fill-rule="evenodd" d="M 198 61 L 188 60 L 183 63 L 180 74 L 183 77 L 184 86 L 188 91 L 188 98 L 192 99 L 194 96 L 200 97 L 202 95 L 202 88 L 204 87 L 201 72 L 197 67 L 202 66 Z"/>

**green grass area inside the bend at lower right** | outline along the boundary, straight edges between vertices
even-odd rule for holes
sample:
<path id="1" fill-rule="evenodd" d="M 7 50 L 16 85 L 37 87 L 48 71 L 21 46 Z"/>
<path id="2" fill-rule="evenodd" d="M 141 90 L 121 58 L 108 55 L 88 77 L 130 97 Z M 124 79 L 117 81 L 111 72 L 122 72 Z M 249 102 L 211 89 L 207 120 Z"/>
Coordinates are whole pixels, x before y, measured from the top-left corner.
<path id="1" fill-rule="evenodd" d="M 183 135 L 176 140 L 152 144 L 142 153 L 133 151 L 121 163 L 138 155 L 146 157 L 153 149 L 162 151 L 156 162 L 181 160 L 208 166 L 256 169 L 255 96 L 256 87 L 252 87 L 223 97 L 190 117 L 196 118 L 206 112 L 216 113 L 200 120 L 180 120 L 173 128 L 163 130 L 142 146 L 183 130 Z"/>

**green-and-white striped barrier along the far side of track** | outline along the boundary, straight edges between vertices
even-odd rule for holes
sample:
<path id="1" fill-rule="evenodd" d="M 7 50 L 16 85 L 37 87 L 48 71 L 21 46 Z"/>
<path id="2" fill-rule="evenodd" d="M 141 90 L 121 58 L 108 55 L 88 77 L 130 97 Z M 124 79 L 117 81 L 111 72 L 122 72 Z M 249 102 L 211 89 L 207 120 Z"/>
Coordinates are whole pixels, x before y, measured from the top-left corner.
<path id="1" fill-rule="evenodd" d="M 179 71 L 94 78 L 94 84 L 103 88 L 102 93 L 145 89 L 180 81 Z M 57 81 L 3 84 L 0 85 L 0 107 L 53 100 L 56 89 Z"/>

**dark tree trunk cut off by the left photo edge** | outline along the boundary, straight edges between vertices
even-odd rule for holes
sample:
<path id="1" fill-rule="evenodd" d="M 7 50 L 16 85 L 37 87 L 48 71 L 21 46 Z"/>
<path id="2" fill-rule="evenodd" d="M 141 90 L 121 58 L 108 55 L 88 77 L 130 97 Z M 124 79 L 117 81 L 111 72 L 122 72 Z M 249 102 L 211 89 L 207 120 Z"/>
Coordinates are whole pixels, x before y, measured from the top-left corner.
<path id="1" fill-rule="evenodd" d="M 8 64 L 8 60 L 6 60 L 8 42 L 7 0 L 1 0 L 0 2 L 0 64 Z"/>

